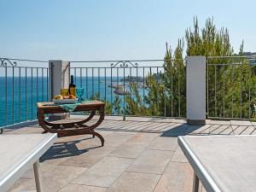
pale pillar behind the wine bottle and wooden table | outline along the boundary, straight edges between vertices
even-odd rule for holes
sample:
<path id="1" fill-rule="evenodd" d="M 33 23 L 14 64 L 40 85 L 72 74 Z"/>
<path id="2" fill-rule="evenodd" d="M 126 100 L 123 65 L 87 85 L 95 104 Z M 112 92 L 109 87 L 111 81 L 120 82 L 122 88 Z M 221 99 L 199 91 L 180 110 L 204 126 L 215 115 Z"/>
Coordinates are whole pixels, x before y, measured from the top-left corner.
<path id="1" fill-rule="evenodd" d="M 49 101 L 69 85 L 69 61 L 49 61 Z"/>

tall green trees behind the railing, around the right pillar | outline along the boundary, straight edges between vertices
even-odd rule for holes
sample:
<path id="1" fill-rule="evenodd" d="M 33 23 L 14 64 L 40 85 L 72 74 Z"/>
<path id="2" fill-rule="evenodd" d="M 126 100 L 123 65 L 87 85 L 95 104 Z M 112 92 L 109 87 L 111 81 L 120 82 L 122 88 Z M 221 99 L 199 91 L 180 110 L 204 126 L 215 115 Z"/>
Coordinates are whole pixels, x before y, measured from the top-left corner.
<path id="1" fill-rule="evenodd" d="M 255 116 L 255 68 L 247 58 L 231 57 L 234 50 L 226 28 L 218 28 L 213 19 L 207 19 L 200 29 L 197 18 L 193 28 L 185 32 L 185 55 L 207 57 L 207 111 L 211 117 L 253 118 Z M 131 96 L 126 96 L 125 113 L 135 115 L 186 116 L 185 62 L 183 39 L 177 48 L 166 44 L 164 73 L 148 73 L 147 95 L 143 98 L 137 84 L 131 84 Z M 243 55 L 243 43 L 239 55 Z M 231 65 L 230 65 L 231 64 Z M 195 90 L 196 91 L 196 90 Z M 145 103 L 144 103 L 145 102 Z"/>

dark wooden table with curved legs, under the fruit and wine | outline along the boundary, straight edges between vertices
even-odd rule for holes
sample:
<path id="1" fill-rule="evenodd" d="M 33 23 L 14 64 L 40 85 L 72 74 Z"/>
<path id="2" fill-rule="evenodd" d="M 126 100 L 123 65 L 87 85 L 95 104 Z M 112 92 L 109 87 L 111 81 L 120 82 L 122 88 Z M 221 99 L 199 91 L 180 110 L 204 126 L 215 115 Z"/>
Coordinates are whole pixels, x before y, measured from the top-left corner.
<path id="1" fill-rule="evenodd" d="M 54 105 L 53 102 L 38 102 L 38 123 L 44 128 L 44 132 L 57 133 L 58 137 L 74 136 L 90 134 L 93 137 L 99 137 L 102 146 L 104 145 L 104 138 L 101 134 L 94 131 L 94 129 L 102 123 L 105 117 L 105 103 L 99 101 L 82 102 L 73 112 L 88 112 L 90 115 L 86 119 L 80 119 L 78 121 L 62 120 L 60 122 L 49 122 L 45 120 L 44 114 L 46 113 L 67 113 L 66 110 L 60 108 L 58 105 Z M 93 125 L 85 125 L 89 122 L 93 116 L 99 113 L 99 119 Z"/>

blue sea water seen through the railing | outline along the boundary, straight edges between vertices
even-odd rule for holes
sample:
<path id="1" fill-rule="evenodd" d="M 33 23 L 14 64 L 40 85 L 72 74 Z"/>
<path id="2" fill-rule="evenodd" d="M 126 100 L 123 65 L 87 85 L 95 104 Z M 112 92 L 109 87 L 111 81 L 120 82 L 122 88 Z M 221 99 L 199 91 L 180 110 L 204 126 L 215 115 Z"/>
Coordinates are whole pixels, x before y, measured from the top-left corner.
<path id="1" fill-rule="evenodd" d="M 112 84 L 123 84 L 121 77 L 83 77 L 74 79 L 77 87 L 85 88 L 84 99 L 90 99 L 99 93 L 100 100 L 113 102 L 114 89 L 108 87 Z M 127 82 L 128 83 L 128 82 Z M 7 85 L 7 86 L 6 86 Z M 130 91 L 130 86 L 125 85 Z M 0 126 L 12 125 L 26 120 L 37 119 L 37 102 L 48 101 L 48 79 L 46 77 L 0 77 Z M 143 94 L 143 90 L 140 90 Z M 124 96 L 121 99 L 123 106 Z"/>

